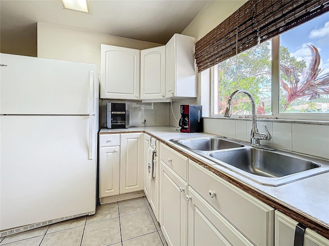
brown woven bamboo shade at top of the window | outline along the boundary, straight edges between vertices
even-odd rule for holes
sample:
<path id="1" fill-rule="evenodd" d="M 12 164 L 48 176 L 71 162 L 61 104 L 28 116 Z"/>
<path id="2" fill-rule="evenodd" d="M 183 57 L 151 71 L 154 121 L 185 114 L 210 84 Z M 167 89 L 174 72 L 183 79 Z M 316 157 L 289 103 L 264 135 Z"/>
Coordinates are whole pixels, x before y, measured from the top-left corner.
<path id="1" fill-rule="evenodd" d="M 329 0 L 249 0 L 196 42 L 198 72 L 327 11 Z"/>

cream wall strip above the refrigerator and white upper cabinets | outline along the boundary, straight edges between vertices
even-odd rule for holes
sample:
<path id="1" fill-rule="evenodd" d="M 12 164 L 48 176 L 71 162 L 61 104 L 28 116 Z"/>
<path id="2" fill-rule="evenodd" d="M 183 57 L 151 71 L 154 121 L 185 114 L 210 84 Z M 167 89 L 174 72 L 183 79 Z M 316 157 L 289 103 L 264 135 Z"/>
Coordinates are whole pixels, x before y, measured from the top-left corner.
<path id="1" fill-rule="evenodd" d="M 38 23 L 38 57 L 96 64 L 100 74 L 101 44 L 148 49 L 161 44 Z"/>

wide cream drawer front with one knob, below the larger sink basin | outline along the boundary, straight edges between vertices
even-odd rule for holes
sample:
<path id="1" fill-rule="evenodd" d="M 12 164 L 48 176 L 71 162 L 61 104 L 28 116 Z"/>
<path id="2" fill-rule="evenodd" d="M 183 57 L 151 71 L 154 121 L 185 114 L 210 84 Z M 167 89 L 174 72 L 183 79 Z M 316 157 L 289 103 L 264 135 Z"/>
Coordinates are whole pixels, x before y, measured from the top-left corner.
<path id="1" fill-rule="evenodd" d="M 274 209 L 189 160 L 189 185 L 255 245 L 273 245 Z"/>

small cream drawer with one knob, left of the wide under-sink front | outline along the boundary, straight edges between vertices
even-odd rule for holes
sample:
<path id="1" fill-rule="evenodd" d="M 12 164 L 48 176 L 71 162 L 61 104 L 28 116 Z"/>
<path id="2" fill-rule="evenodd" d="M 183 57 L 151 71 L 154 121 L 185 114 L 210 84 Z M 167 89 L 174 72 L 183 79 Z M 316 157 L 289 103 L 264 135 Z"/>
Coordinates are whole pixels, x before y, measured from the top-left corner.
<path id="1" fill-rule="evenodd" d="M 161 144 L 160 149 L 161 160 L 165 162 L 168 167 L 173 169 L 180 177 L 187 180 L 188 158 L 163 144 Z"/>

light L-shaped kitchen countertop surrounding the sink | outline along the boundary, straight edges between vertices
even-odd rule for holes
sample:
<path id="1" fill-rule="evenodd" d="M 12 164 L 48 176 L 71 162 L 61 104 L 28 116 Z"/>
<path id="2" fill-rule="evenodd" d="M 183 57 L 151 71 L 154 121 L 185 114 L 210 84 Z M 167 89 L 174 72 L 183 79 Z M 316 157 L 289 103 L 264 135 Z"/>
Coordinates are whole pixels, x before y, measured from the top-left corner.
<path id="1" fill-rule="evenodd" d="M 125 132 L 140 132 L 144 131 L 158 138 L 167 145 L 181 150 L 187 155 L 193 156 L 198 160 L 206 163 L 217 171 L 220 171 L 239 181 L 243 186 L 252 189 L 263 197 L 282 204 L 288 210 L 302 214 L 307 219 L 318 223 L 324 227 L 324 230 L 329 230 L 329 172 L 318 174 L 313 177 L 304 178 L 298 181 L 290 182 L 282 186 L 271 187 L 260 185 L 248 178 L 245 178 L 221 165 L 218 165 L 211 160 L 205 159 L 197 154 L 182 148 L 170 142 L 173 138 L 190 138 L 200 136 L 214 136 L 208 133 L 181 133 L 175 130 L 175 127 L 132 127 L 128 129 L 101 129 L 100 134 L 107 133 L 125 133 Z M 209 168 L 207 168 L 209 169 Z M 273 206 L 274 207 L 274 206 Z M 296 219 L 296 218 L 295 218 Z"/>

